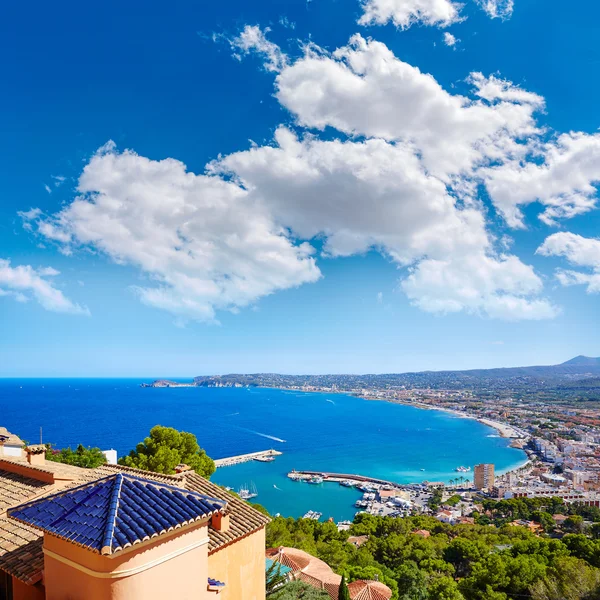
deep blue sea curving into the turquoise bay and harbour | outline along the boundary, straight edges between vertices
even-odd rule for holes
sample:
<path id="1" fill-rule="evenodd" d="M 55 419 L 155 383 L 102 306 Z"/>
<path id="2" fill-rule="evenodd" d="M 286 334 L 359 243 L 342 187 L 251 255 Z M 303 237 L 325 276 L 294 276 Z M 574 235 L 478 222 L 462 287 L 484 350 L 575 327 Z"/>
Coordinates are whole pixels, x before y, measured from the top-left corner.
<path id="1" fill-rule="evenodd" d="M 503 471 L 525 460 L 493 429 L 441 411 L 342 394 L 245 388 L 141 388 L 133 379 L 0 379 L 0 426 L 30 443 L 83 443 L 119 456 L 154 425 L 191 431 L 213 458 L 274 448 L 271 463 L 217 470 L 212 480 L 253 483 L 271 513 L 351 519 L 358 492 L 287 478 L 292 469 L 357 473 L 408 483 L 447 481 L 454 468 L 490 462 Z M 422 471 L 424 469 L 424 471 Z M 472 476 L 472 474 L 470 475 Z"/>

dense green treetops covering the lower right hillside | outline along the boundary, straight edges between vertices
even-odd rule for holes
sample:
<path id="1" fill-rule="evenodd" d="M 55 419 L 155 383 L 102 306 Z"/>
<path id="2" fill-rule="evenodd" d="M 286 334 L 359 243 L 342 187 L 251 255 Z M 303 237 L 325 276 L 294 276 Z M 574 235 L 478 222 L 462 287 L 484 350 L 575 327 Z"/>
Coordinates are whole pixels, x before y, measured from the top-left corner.
<path id="1" fill-rule="evenodd" d="M 369 539 L 357 548 L 347 542 L 350 535 Z M 278 517 L 267 528 L 267 546 L 305 550 L 348 581 L 377 575 L 394 600 L 600 599 L 600 540 L 581 533 L 552 539 L 511 525 L 367 514 L 338 532 L 334 523 Z M 302 596 L 282 596 L 288 597 Z"/>

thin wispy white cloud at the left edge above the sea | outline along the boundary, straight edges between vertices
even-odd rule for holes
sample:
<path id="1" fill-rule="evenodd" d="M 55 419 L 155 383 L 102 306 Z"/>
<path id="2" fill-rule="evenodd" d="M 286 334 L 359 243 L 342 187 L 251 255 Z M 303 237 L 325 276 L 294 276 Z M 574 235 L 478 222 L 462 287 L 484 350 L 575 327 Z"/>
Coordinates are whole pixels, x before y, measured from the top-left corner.
<path id="1" fill-rule="evenodd" d="M 34 269 L 30 265 L 12 267 L 10 260 L 0 258 L 0 296 L 12 297 L 18 302 L 35 298 L 46 310 L 76 315 L 88 315 L 86 307 L 69 300 L 48 281 L 59 272 L 52 267 Z"/>

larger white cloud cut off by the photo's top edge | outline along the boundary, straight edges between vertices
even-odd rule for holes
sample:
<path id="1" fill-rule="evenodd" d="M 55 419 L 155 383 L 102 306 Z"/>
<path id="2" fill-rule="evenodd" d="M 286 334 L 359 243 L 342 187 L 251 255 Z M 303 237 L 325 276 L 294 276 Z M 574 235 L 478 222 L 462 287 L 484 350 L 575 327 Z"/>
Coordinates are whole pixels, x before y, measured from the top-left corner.
<path id="1" fill-rule="evenodd" d="M 460 21 L 462 4 L 451 0 L 365 0 L 361 25 L 393 23 L 400 29 L 422 23 L 447 27 Z"/>

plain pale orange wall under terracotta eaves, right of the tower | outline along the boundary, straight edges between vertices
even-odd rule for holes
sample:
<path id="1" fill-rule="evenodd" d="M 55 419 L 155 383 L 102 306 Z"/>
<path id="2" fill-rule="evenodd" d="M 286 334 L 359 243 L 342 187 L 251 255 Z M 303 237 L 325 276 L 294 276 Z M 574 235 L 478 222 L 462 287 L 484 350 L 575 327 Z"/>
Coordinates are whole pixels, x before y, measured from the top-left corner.
<path id="1" fill-rule="evenodd" d="M 211 554 L 208 574 L 226 584 L 214 600 L 265 600 L 264 528 Z"/>

